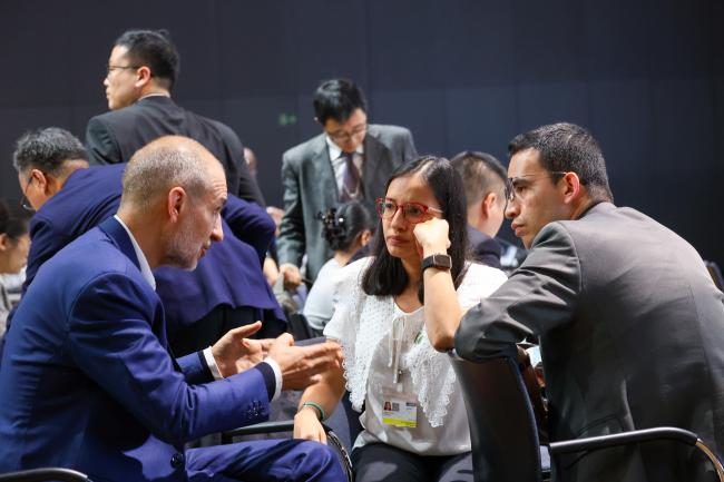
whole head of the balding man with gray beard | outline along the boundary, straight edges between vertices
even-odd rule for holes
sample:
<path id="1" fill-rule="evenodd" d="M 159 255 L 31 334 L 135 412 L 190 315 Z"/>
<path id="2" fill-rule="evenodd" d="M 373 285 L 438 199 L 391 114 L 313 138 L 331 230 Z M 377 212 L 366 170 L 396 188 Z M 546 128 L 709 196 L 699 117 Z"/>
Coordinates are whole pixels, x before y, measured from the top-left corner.
<path id="1" fill-rule="evenodd" d="M 118 216 L 151 267 L 194 269 L 224 238 L 226 177 L 221 163 L 186 137 L 162 137 L 128 163 Z"/>

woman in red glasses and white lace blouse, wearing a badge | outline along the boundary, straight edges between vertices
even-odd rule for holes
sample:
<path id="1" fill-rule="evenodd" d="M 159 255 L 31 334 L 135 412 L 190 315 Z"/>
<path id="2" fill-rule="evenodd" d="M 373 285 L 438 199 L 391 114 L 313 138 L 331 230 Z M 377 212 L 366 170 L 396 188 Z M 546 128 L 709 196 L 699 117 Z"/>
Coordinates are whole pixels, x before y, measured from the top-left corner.
<path id="1" fill-rule="evenodd" d="M 335 312 L 324 328 L 343 347 L 343 368 L 306 388 L 294 436 L 325 442 L 320 420 L 346 386 L 364 427 L 352 452 L 358 482 L 472 481 L 462 395 L 447 354 L 428 341 L 421 279 L 427 268 L 450 270 L 460 305 L 469 308 L 506 276 L 466 262 L 462 179 L 447 159 L 405 163 L 385 193 L 376 201 L 381 227 L 372 256 L 342 270 Z M 413 229 L 432 218 L 448 222 L 449 246 L 422 259 Z"/>

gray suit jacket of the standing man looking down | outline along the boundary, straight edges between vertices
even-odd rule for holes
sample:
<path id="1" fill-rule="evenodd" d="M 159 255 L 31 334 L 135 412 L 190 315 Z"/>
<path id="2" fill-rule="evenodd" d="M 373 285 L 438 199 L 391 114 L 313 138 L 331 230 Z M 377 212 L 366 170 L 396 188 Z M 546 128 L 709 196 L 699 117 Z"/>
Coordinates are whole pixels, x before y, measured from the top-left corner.
<path id="1" fill-rule="evenodd" d="M 384 185 L 392 171 L 417 156 L 408 129 L 369 126 L 364 138 L 362 185 L 364 200 L 370 208 L 373 208 L 374 199 L 384 196 Z M 280 264 L 301 266 L 302 256 L 306 253 L 306 277 L 314 281 L 322 265 L 333 255 L 322 237 L 317 213 L 336 207 L 340 199 L 324 134 L 284 153 L 282 181 L 284 217 L 278 237 Z"/>

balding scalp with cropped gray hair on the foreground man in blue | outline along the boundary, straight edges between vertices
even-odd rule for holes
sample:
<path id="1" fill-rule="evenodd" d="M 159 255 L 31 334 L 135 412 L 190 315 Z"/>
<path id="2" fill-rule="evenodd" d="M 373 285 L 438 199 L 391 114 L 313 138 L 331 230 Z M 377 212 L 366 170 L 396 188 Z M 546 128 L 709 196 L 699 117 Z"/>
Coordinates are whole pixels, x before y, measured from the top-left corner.
<path id="1" fill-rule="evenodd" d="M 196 196 L 212 188 L 224 169 L 200 144 L 182 136 L 160 137 L 141 147 L 126 166 L 121 206 L 146 210 L 173 187 Z"/>

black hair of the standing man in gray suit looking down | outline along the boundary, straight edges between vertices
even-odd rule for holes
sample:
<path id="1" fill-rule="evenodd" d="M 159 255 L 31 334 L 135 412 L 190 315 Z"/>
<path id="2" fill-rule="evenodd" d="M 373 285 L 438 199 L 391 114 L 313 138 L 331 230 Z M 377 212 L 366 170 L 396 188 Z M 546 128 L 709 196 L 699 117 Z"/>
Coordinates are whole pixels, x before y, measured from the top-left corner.
<path id="1" fill-rule="evenodd" d="M 368 110 L 362 90 L 351 80 L 332 79 L 320 83 L 314 92 L 314 116 L 324 126 L 332 118 L 345 122 L 356 109 Z"/>

